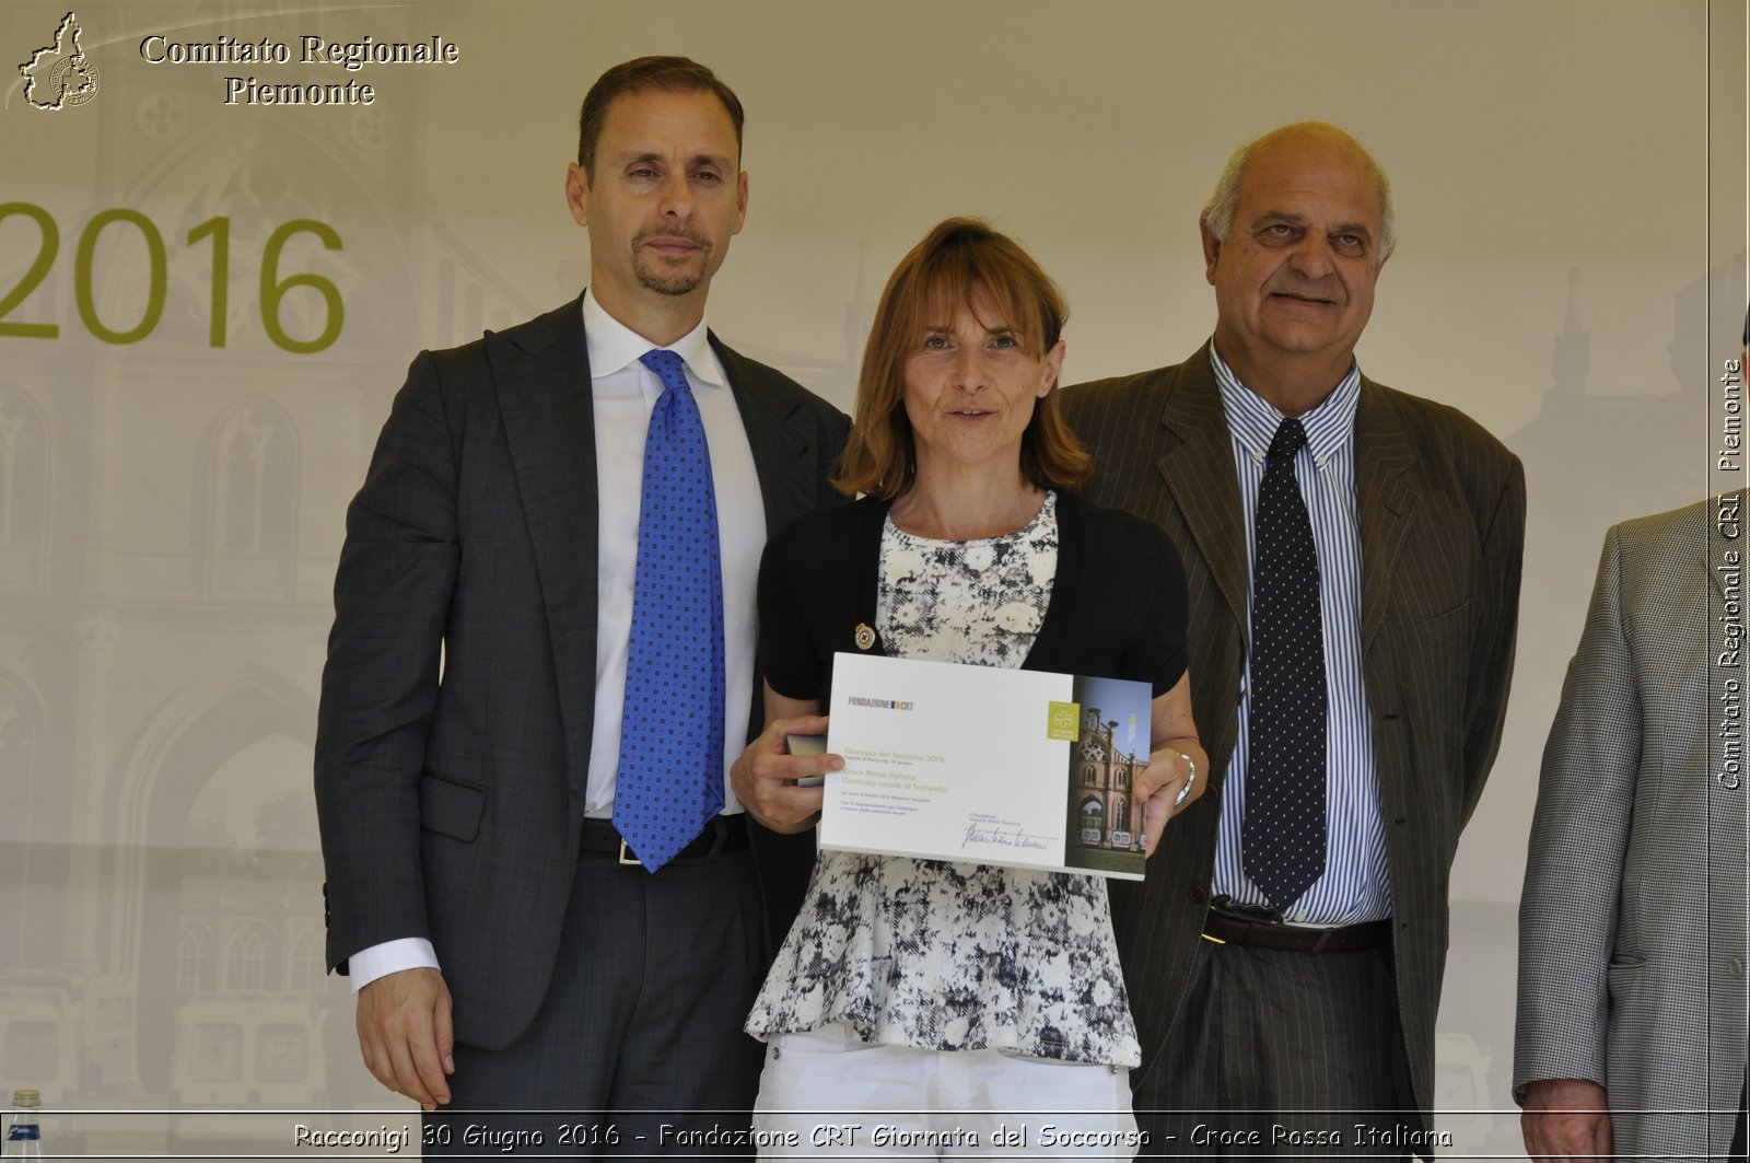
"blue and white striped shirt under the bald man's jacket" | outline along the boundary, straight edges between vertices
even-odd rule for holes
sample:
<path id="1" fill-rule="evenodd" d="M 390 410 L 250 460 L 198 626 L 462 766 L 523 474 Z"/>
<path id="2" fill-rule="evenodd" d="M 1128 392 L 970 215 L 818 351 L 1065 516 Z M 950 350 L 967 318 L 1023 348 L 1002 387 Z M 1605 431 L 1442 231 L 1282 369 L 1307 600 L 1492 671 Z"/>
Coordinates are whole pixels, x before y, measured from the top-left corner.
<path id="1" fill-rule="evenodd" d="M 1256 553 L 1258 482 L 1264 461 L 1283 422 L 1262 396 L 1241 384 L 1209 342 L 1209 363 L 1222 387 L 1222 408 L 1234 438 L 1239 469 L 1239 506 L 1246 522 L 1246 624 L 1251 625 L 1251 571 Z M 1391 881 L 1386 874 L 1386 828 L 1379 811 L 1379 776 L 1374 767 L 1374 727 L 1362 683 L 1362 534 L 1354 504 L 1354 406 L 1362 371 L 1349 364 L 1337 389 L 1300 417 L 1307 443 L 1295 454 L 1295 482 L 1312 522 L 1318 552 L 1320 611 L 1325 622 L 1325 874 L 1290 906 L 1295 925 L 1360 925 L 1391 916 Z M 1222 793 L 1222 828 L 1214 849 L 1216 895 L 1267 906 L 1264 892 L 1246 878 L 1239 835 L 1246 809 L 1248 723 L 1251 716 L 1251 662 L 1242 678 L 1239 739 Z"/>

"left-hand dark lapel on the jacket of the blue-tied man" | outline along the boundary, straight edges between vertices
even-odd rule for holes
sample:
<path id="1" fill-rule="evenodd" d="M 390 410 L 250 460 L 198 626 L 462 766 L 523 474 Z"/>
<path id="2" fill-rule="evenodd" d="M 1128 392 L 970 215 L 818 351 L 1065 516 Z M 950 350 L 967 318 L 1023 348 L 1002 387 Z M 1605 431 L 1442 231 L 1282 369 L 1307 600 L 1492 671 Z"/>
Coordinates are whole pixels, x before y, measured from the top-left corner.
<path id="1" fill-rule="evenodd" d="M 583 307 L 574 300 L 502 335 L 486 359 L 528 522 L 565 723 L 572 804 L 581 809 L 595 718 L 595 405 Z"/>

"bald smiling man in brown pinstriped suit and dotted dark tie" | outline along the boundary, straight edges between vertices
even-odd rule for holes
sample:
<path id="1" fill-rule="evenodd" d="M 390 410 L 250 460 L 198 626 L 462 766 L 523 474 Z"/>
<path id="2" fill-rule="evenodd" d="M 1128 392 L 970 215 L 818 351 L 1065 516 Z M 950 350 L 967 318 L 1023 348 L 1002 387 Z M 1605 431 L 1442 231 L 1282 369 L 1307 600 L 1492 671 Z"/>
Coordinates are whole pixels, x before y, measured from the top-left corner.
<path id="1" fill-rule="evenodd" d="M 1502 736 L 1524 475 L 1460 412 L 1360 375 L 1395 238 L 1349 135 L 1239 149 L 1200 229 L 1213 340 L 1062 398 L 1090 497 L 1185 560 L 1213 767 L 1148 879 L 1111 890 L 1144 1151 L 1426 1154 L 1447 876 Z"/>

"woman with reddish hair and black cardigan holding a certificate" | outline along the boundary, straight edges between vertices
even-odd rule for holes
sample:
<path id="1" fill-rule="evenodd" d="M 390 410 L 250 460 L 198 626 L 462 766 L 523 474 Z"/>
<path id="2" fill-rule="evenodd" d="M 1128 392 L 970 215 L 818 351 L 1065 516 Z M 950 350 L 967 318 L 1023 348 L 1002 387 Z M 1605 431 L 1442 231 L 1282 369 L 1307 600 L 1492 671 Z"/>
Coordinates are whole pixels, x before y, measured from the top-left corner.
<path id="1" fill-rule="evenodd" d="M 735 793 L 766 827 L 812 827 L 822 792 L 798 779 L 840 765 L 786 746 L 824 732 L 840 650 L 1148 681 L 1130 811 L 1150 846 L 1200 792 L 1178 553 L 1069 490 L 1088 457 L 1054 396 L 1066 315 L 1038 263 L 971 219 L 887 280 L 835 480 L 861 499 L 788 525 L 760 571 L 766 730 Z M 768 1042 L 756 1126 L 802 1149 L 1138 1149 L 1139 1046 L 1097 876 L 824 851 L 747 1030 Z M 814 1135 L 872 1112 L 880 1142 Z M 1031 1112 L 1059 1133 L 1041 1142 Z M 992 1142 L 1018 1114 L 1032 1142 Z"/>

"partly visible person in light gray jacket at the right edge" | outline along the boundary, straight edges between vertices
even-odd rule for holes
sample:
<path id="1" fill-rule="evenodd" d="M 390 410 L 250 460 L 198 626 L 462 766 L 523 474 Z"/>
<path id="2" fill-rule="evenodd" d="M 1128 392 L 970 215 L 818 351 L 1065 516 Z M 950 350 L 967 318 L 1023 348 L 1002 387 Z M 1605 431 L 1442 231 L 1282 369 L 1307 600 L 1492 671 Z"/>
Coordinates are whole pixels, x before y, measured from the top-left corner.
<path id="1" fill-rule="evenodd" d="M 1743 503 L 1726 494 L 1605 538 L 1519 899 L 1514 1098 L 1535 1159 L 1720 1158 L 1732 1138 Z"/>

